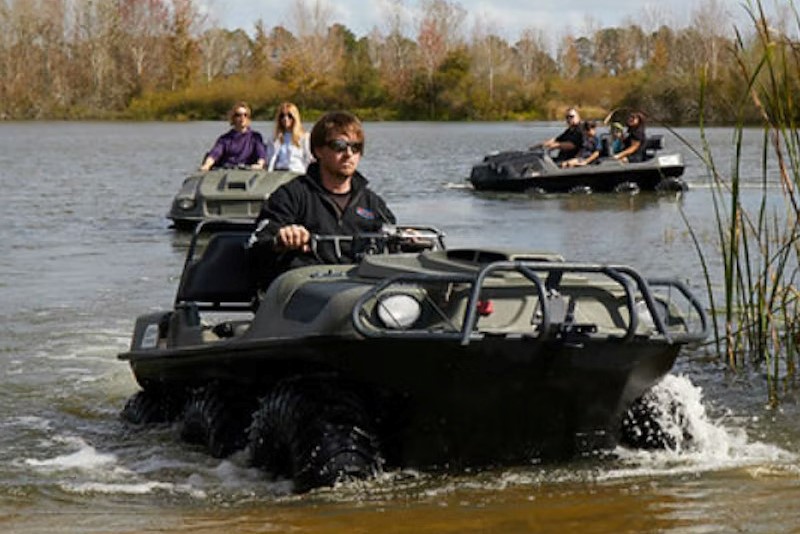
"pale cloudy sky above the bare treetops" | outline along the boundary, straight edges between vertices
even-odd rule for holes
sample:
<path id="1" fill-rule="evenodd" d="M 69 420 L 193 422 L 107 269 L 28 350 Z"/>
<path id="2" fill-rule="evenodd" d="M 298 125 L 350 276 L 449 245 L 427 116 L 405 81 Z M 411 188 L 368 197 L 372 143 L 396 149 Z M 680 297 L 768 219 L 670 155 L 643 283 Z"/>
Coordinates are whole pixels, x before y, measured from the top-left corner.
<path id="1" fill-rule="evenodd" d="M 293 29 L 290 13 L 295 0 L 203 1 L 210 6 L 212 18 L 223 27 L 241 28 L 252 34 L 254 23 L 263 19 L 267 28 L 283 25 Z M 303 1 L 306 6 L 321 1 L 330 10 L 331 22 L 343 24 L 357 37 L 363 37 L 374 27 L 385 33 L 383 20 L 386 18 L 386 0 Z M 729 11 L 738 19 L 738 23 L 745 20 L 740 0 L 459 0 L 457 3 L 468 14 L 465 30 L 480 20 L 484 26 L 492 28 L 493 33 L 514 40 L 526 28 L 543 30 L 546 35 L 552 36 L 566 31 L 580 33 L 590 20 L 600 27 L 635 21 L 649 29 L 654 19 L 673 27 L 682 27 L 688 24 L 700 6 L 712 1 Z M 419 2 L 405 0 L 404 4 L 413 10 Z M 725 28 L 723 33 L 728 33 L 730 29 Z"/>

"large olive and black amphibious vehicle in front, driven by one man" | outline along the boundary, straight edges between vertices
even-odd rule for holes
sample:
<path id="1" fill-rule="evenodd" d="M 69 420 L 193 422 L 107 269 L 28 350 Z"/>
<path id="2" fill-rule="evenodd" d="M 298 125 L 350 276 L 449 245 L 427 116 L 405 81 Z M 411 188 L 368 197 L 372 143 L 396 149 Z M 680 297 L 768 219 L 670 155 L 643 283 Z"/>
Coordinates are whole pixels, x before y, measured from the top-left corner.
<path id="1" fill-rule="evenodd" d="M 259 290 L 250 228 L 220 229 L 202 255 L 200 235 L 173 307 L 140 316 L 119 356 L 142 388 L 123 417 L 178 421 L 217 457 L 245 448 L 299 492 L 613 447 L 628 408 L 707 334 L 686 286 L 623 265 L 386 228 L 316 236 L 358 261 Z"/>

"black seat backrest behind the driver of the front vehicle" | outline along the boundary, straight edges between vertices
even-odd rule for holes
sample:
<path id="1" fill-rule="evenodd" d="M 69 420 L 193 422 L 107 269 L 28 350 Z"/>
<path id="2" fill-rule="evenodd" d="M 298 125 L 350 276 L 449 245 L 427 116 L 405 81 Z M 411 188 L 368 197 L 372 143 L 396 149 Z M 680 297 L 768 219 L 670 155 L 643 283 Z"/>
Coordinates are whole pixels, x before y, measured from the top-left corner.
<path id="1" fill-rule="evenodd" d="M 249 232 L 219 232 L 203 255 L 186 263 L 175 302 L 196 302 L 201 309 L 248 308 L 256 294 L 248 250 Z"/>

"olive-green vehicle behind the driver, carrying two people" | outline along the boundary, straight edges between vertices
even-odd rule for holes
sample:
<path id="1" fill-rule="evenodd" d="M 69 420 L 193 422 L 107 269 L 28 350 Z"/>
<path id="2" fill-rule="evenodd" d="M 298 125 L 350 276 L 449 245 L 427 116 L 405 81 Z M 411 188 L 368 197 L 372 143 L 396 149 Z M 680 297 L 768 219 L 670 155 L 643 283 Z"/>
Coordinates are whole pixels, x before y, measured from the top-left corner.
<path id="1" fill-rule="evenodd" d="M 180 229 L 207 221 L 254 221 L 264 200 L 297 175 L 249 168 L 198 172 L 183 181 L 167 217 Z"/>

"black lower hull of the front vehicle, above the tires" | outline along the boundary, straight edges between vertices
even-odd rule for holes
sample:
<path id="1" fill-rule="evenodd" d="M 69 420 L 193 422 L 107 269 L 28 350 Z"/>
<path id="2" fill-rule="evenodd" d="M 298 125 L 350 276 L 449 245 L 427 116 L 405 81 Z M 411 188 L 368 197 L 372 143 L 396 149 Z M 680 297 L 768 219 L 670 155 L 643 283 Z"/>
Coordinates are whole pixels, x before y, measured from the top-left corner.
<path id="1" fill-rule="evenodd" d="M 320 337 L 129 352 L 139 384 L 213 382 L 258 397 L 319 375 L 357 391 L 390 465 L 450 467 L 563 459 L 614 446 L 627 407 L 672 367 L 667 342 L 453 342 Z"/>

